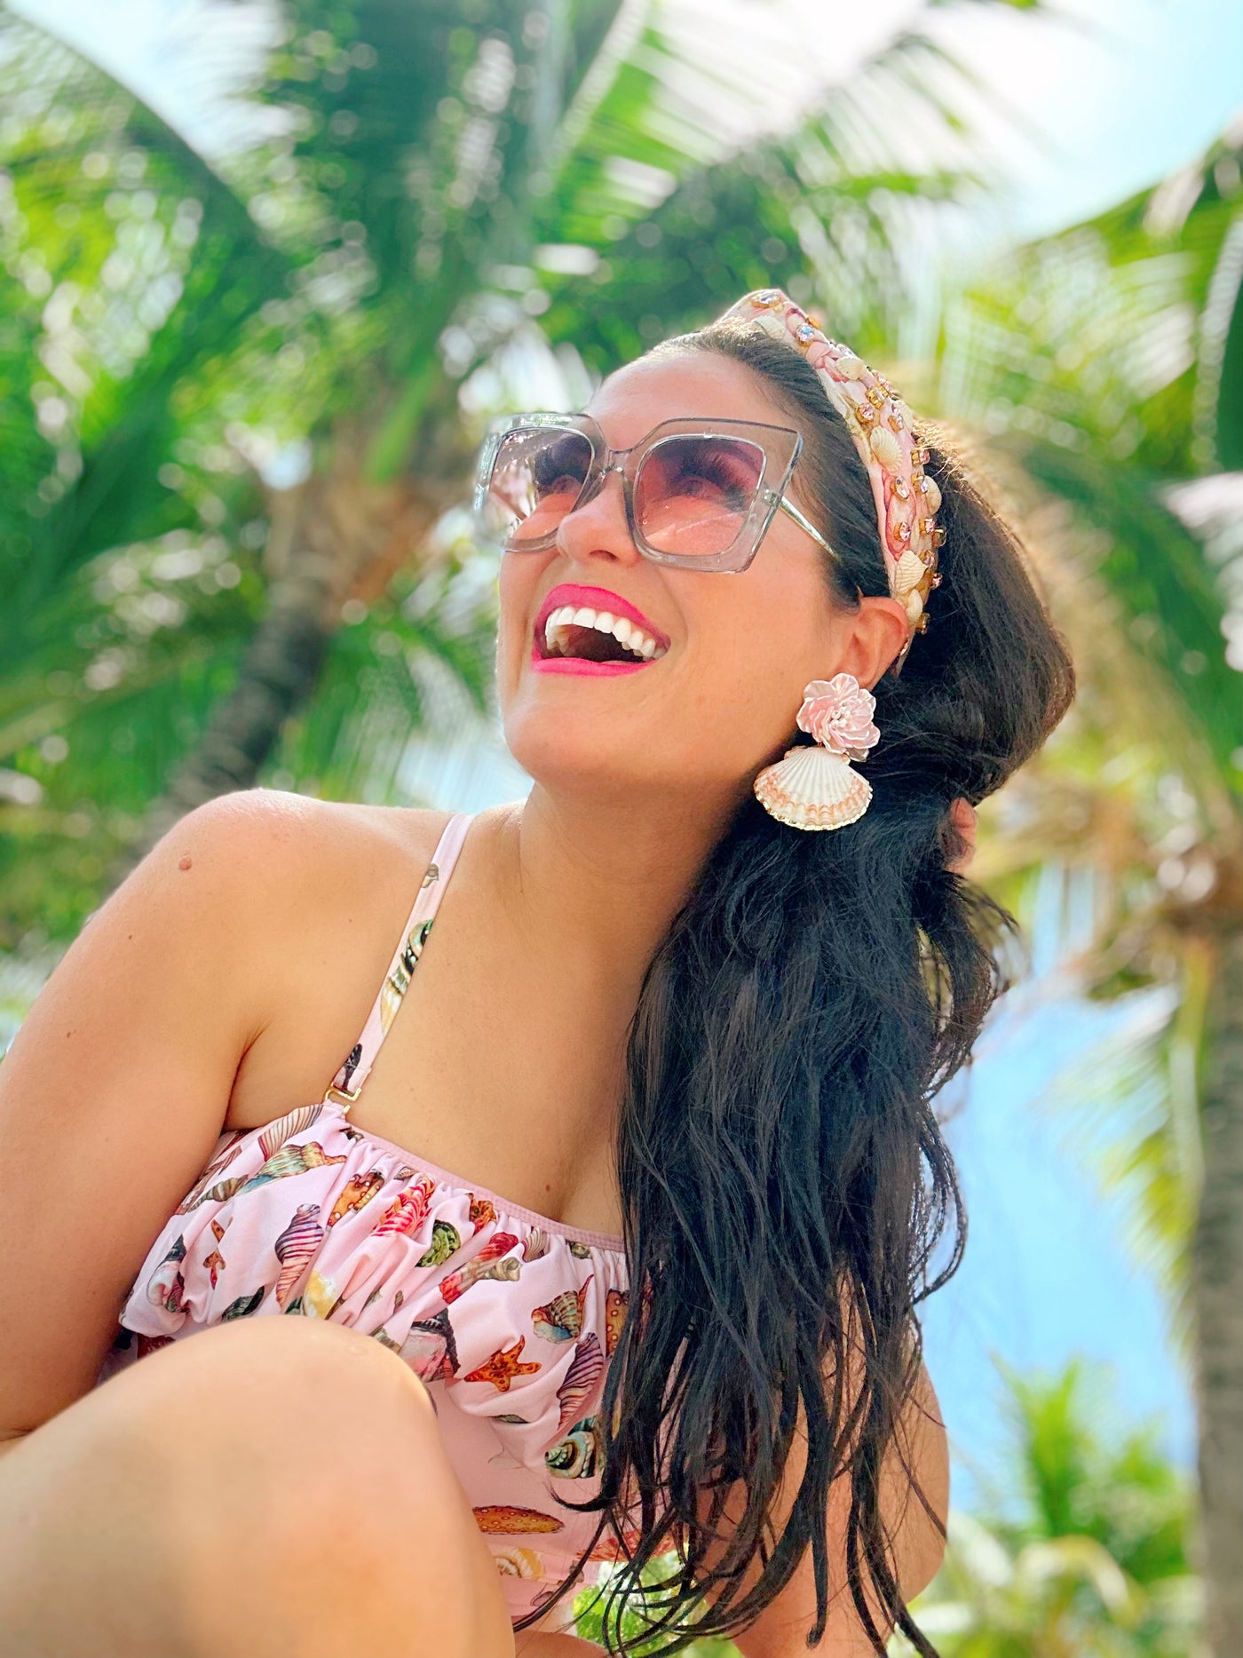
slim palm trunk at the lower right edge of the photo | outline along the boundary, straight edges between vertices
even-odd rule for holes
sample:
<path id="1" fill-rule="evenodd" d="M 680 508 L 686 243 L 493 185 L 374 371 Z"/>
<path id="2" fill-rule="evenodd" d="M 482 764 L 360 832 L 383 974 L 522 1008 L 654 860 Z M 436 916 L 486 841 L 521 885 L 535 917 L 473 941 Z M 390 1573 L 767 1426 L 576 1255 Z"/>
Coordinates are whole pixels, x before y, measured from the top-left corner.
<path id="1" fill-rule="evenodd" d="M 1202 1563 L 1213 1658 L 1243 1658 L 1243 930 L 1221 942 L 1202 1098 L 1192 1255 Z"/>

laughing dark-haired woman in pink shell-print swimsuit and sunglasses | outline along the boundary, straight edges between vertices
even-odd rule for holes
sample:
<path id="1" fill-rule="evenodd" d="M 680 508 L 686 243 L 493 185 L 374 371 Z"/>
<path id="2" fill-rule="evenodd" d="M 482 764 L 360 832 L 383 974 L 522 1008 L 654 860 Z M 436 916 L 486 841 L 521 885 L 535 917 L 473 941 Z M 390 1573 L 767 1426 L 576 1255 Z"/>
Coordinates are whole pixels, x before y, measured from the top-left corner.
<path id="1" fill-rule="evenodd" d="M 1074 685 L 921 438 L 779 290 L 509 423 L 529 799 L 227 796 L 91 917 L 0 1071 L 7 1651 L 568 1658 L 675 1547 L 671 1630 L 933 1651 L 955 869 Z"/>

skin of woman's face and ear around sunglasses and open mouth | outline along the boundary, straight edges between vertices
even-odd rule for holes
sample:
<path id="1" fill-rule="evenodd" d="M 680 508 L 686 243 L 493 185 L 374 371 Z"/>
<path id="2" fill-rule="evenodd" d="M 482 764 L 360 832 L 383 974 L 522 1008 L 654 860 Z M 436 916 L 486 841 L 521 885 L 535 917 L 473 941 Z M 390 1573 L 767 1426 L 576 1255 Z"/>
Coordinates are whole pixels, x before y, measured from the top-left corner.
<path id="1" fill-rule="evenodd" d="M 587 413 L 615 449 L 681 416 L 794 424 L 759 375 L 701 351 L 630 363 L 600 386 Z M 832 541 L 824 511 L 800 504 Z M 502 555 L 497 688 L 510 753 L 545 788 L 597 797 L 660 788 L 689 804 L 704 791 L 718 801 L 744 794 L 796 736 L 809 680 L 850 671 L 875 683 L 903 643 L 893 600 L 865 599 L 860 612 L 834 605 L 822 557 L 812 537 L 777 512 L 746 570 L 656 564 L 635 547 L 622 478 L 610 474 L 592 501 L 562 519 L 554 547 Z M 633 605 L 646 632 L 668 647 L 628 673 L 534 667 L 540 607 L 562 584 L 595 589 L 595 597 L 567 597 L 598 612 L 618 615 L 615 599 Z M 892 615 L 878 617 L 875 607 Z"/>

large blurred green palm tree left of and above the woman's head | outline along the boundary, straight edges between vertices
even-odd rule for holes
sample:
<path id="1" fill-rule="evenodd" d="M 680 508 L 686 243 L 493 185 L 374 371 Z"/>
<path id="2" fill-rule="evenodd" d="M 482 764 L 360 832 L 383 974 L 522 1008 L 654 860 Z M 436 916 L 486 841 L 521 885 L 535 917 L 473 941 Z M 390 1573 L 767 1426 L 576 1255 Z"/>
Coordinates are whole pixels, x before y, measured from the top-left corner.
<path id="1" fill-rule="evenodd" d="M 25 869 L 10 940 L 35 915 L 70 933 L 177 812 L 265 766 L 356 788 L 378 725 L 366 781 L 391 789 L 413 650 L 486 708 L 486 613 L 459 638 L 413 592 L 464 494 L 464 393 L 477 410 L 507 353 L 607 368 L 655 317 L 668 332 L 767 280 L 810 293 L 812 274 L 880 317 L 893 285 L 860 277 L 900 274 L 903 207 L 970 177 L 860 138 L 892 96 L 953 126 L 918 30 L 792 138 L 739 149 L 738 71 L 675 48 L 641 0 L 283 17 L 247 95 L 268 136 L 207 161 L 0 13 L 20 113 L 0 764 L 40 789 L 3 807 L 0 857 L 17 870 L 20 844 Z"/>

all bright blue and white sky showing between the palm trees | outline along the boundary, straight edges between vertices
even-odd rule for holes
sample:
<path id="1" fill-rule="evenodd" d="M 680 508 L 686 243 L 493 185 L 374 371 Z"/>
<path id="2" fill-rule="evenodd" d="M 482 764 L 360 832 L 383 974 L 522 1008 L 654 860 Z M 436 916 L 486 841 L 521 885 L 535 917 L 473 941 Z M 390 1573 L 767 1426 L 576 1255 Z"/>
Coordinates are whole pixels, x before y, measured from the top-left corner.
<path id="1" fill-rule="evenodd" d="M 235 35 L 214 35 L 204 55 L 194 50 L 201 0 L 20 0 L 13 10 L 48 22 L 209 134 L 219 133 L 209 104 L 220 68 L 264 23 L 260 5 L 229 8 Z M 734 68 L 747 61 L 738 41 L 762 38 L 762 93 L 772 111 L 789 113 L 917 10 L 915 0 L 676 0 L 668 15 Z M 1072 224 L 1185 166 L 1243 106 L 1238 0 L 1066 0 L 1036 23 L 963 5 L 936 13 L 935 28 L 988 93 L 976 118 L 1003 189 L 996 211 L 979 216 L 978 257 L 1006 234 Z M 419 749 L 409 783 L 461 809 L 524 793 L 517 768 L 487 749 Z M 1119 1217 L 1067 1149 L 1064 1124 L 1041 1103 L 1057 1066 L 1104 1035 L 1110 1015 L 1056 995 L 1034 1006 L 989 1028 L 950 1129 L 971 1240 L 961 1272 L 928 1307 L 926 1340 L 953 1439 L 984 1461 L 996 1444 L 993 1355 L 1029 1371 L 1082 1353 L 1112 1365 L 1125 1414 L 1158 1414 L 1172 1451 L 1190 1461 L 1188 1389 L 1158 1297 L 1129 1263 Z M 968 1491 L 961 1464 L 960 1494 Z"/>

